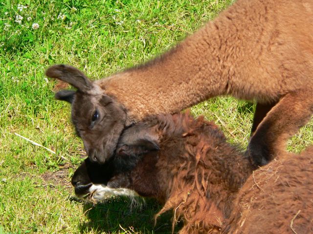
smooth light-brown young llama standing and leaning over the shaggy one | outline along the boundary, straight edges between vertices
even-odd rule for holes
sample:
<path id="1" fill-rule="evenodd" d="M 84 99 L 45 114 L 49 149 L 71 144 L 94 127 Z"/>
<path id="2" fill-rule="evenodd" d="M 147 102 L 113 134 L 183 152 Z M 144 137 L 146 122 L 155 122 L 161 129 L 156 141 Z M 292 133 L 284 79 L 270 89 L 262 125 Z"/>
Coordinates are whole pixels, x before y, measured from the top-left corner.
<path id="1" fill-rule="evenodd" d="M 257 101 L 248 151 L 264 165 L 313 113 L 312 20 L 312 0 L 238 0 L 143 65 L 93 82 L 66 65 L 46 75 L 78 88 L 57 98 L 72 102 L 90 160 L 110 158 L 123 128 L 145 116 L 231 95 Z"/>

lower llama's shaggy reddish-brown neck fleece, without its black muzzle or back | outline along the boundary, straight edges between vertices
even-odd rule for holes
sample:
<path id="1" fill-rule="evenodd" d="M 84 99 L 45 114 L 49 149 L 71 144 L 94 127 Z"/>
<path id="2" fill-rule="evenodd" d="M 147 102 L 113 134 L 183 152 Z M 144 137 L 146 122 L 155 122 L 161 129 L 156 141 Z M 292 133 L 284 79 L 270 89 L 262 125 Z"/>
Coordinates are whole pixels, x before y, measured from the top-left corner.
<path id="1" fill-rule="evenodd" d="M 173 227 L 182 218 L 180 234 L 220 233 L 234 195 L 252 173 L 248 157 L 203 117 L 160 115 L 144 122 L 156 129 L 160 150 L 134 167 L 130 188 L 165 203 L 156 217 L 173 210 Z"/>

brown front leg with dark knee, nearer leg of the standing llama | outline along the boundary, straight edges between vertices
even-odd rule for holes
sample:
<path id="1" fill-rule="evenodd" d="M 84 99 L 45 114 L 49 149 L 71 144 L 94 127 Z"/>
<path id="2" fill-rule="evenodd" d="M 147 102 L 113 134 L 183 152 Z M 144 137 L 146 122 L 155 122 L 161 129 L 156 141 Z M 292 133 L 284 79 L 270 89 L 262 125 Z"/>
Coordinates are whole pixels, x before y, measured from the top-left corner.
<path id="1" fill-rule="evenodd" d="M 281 98 L 250 138 L 247 151 L 252 163 L 256 167 L 266 165 L 285 150 L 288 138 L 304 126 L 312 114 L 311 92 L 302 90 Z"/>

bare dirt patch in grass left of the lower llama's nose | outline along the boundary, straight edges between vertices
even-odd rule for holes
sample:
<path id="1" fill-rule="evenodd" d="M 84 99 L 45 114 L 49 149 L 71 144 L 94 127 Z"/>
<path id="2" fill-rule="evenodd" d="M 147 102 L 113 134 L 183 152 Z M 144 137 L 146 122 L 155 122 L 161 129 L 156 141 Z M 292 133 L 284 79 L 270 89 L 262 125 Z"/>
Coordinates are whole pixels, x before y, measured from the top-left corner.
<path id="1" fill-rule="evenodd" d="M 68 176 L 69 169 L 74 166 L 70 163 L 66 163 L 57 172 L 45 172 L 41 177 L 46 182 L 46 186 L 56 187 L 58 185 L 64 186 L 68 191 L 72 191 L 73 186 L 70 183 L 70 178 Z"/>

